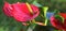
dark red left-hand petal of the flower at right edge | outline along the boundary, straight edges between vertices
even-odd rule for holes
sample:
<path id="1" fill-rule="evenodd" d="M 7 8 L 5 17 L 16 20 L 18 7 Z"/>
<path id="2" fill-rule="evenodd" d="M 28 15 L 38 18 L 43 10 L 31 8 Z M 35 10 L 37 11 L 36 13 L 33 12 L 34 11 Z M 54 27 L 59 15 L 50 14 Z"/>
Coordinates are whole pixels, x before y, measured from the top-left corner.
<path id="1" fill-rule="evenodd" d="M 53 27 L 55 27 L 56 29 L 63 30 L 64 29 L 64 25 L 63 22 L 61 22 L 58 19 L 55 19 L 54 16 L 51 17 L 51 24 Z"/>

